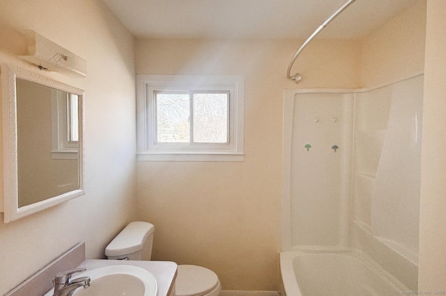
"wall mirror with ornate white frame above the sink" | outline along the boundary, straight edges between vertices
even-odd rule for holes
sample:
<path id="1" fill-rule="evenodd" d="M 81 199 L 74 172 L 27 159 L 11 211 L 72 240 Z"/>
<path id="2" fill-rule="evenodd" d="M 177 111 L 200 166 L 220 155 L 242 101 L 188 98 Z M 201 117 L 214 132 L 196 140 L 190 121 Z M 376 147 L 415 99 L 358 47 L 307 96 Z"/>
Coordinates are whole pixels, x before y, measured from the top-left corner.
<path id="1" fill-rule="evenodd" d="M 84 91 L 8 65 L 1 81 L 9 222 L 84 194 Z"/>

